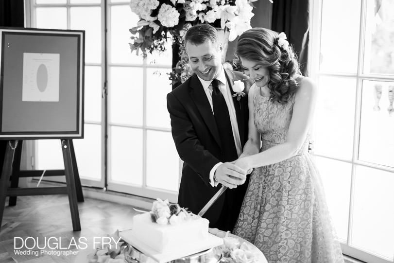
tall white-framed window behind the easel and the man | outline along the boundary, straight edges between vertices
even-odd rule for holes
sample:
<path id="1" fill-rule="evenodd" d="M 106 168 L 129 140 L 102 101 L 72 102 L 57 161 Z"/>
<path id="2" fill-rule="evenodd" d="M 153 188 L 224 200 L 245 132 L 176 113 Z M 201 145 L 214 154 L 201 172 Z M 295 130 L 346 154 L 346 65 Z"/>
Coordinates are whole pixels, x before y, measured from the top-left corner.
<path id="1" fill-rule="evenodd" d="M 176 202 L 181 162 L 166 102 L 171 44 L 146 59 L 130 53 L 138 17 L 129 0 L 31 0 L 30 12 L 31 27 L 86 31 L 85 139 L 73 140 L 82 183 Z M 60 141 L 35 146 L 35 169 L 63 169 Z"/>

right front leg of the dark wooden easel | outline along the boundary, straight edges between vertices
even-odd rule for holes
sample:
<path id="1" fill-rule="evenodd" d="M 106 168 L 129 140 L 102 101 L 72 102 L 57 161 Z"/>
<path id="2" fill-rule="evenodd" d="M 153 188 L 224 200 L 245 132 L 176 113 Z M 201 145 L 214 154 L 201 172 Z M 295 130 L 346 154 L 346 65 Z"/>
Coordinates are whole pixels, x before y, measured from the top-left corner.
<path id="1" fill-rule="evenodd" d="M 80 231 L 81 223 L 79 221 L 79 211 L 78 211 L 77 193 L 75 187 L 75 177 L 72 167 L 70 140 L 61 140 L 61 144 L 62 144 L 63 159 L 64 159 L 64 171 L 66 174 L 67 190 L 69 193 L 72 228 L 74 231 Z"/>

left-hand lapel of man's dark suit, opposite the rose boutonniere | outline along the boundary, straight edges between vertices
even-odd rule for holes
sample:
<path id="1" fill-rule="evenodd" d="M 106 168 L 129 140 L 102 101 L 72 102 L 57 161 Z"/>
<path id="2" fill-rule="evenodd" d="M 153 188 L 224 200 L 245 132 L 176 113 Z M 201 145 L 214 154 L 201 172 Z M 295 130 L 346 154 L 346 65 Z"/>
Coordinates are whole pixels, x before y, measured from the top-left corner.
<path id="1" fill-rule="evenodd" d="M 193 74 L 190 79 L 190 95 L 194 100 L 198 110 L 203 116 L 204 122 L 208 126 L 209 131 L 212 136 L 221 144 L 218 127 L 216 126 L 215 117 L 213 116 L 211 105 L 209 104 L 208 99 L 206 98 L 206 93 L 204 91 L 203 85 L 201 85 L 200 80 L 198 79 L 196 74 Z"/>

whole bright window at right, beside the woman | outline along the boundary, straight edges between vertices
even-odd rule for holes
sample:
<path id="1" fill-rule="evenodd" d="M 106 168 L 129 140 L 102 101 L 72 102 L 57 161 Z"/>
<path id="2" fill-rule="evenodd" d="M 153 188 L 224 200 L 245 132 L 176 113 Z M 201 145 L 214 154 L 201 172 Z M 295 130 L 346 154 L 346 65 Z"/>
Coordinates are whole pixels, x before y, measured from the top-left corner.
<path id="1" fill-rule="evenodd" d="M 394 1 L 313 1 L 315 158 L 343 253 L 394 259 Z"/>

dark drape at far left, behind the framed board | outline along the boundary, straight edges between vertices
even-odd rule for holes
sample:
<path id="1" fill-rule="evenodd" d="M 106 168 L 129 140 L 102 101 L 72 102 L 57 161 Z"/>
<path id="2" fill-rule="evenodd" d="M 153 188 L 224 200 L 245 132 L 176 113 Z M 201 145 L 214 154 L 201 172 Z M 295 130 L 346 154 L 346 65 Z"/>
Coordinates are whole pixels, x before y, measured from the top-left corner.
<path id="1" fill-rule="evenodd" d="M 0 0 L 0 27 L 24 27 L 23 0 Z M 0 175 L 6 149 L 6 140 L 0 140 Z"/>

